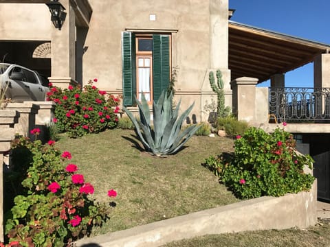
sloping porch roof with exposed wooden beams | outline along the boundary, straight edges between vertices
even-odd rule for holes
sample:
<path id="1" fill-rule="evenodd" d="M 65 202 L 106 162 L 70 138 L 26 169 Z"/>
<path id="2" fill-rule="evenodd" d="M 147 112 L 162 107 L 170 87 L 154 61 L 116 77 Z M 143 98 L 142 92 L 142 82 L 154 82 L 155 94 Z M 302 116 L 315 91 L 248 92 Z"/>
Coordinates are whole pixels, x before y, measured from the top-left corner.
<path id="1" fill-rule="evenodd" d="M 286 73 L 329 53 L 330 45 L 229 21 L 229 69 L 232 80 L 243 76 L 259 82 Z"/>

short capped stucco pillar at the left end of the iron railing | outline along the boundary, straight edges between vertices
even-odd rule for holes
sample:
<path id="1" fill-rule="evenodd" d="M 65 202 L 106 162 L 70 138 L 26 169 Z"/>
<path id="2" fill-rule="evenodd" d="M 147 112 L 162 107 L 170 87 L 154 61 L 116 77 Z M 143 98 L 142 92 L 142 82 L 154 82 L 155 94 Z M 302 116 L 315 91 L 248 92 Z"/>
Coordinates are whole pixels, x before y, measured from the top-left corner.
<path id="1" fill-rule="evenodd" d="M 256 115 L 257 78 L 237 78 L 230 82 L 232 86 L 232 113 L 237 119 L 254 122 Z"/>

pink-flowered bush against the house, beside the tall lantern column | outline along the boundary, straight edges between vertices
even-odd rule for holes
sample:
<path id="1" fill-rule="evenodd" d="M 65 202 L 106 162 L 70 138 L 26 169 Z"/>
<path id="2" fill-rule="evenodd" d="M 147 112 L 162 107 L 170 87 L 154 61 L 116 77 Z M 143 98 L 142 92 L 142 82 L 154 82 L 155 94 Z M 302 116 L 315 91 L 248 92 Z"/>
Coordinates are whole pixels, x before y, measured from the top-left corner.
<path id="1" fill-rule="evenodd" d="M 67 132 L 69 137 L 81 137 L 87 133 L 98 133 L 117 126 L 120 97 L 108 95 L 93 84 L 97 79 L 89 80 L 83 91 L 80 86 L 69 85 L 67 89 L 50 87 L 47 100 L 56 103 L 56 127 Z"/>

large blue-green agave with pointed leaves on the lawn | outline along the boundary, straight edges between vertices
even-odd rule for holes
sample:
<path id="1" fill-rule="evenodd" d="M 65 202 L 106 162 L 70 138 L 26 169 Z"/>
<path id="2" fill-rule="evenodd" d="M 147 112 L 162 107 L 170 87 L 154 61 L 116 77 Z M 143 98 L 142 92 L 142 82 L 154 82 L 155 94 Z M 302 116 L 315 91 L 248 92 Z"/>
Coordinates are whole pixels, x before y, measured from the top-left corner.
<path id="1" fill-rule="evenodd" d="M 140 120 L 137 120 L 125 107 L 122 108 L 133 122 L 135 132 L 145 150 L 157 156 L 175 154 L 200 128 L 195 124 L 181 131 L 182 124 L 194 104 L 178 117 L 181 99 L 175 110 L 172 108 L 172 100 L 173 95 L 167 95 L 163 91 L 157 104 L 153 102 L 153 126 L 150 109 L 143 93 L 141 102 L 135 98 L 140 110 Z"/>

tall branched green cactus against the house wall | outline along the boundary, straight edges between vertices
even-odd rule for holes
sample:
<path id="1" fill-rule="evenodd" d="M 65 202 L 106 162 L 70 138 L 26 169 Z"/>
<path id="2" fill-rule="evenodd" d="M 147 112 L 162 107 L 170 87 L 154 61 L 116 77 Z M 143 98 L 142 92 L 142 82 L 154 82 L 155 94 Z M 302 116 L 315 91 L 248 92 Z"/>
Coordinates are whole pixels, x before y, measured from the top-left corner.
<path id="1" fill-rule="evenodd" d="M 229 113 L 229 108 L 225 107 L 225 92 L 223 91 L 223 80 L 221 71 L 218 69 L 217 73 L 217 84 L 214 81 L 213 71 L 210 71 L 208 78 L 210 80 L 210 85 L 212 91 L 218 95 L 218 105 L 217 105 L 217 116 L 218 117 L 227 117 Z"/>

